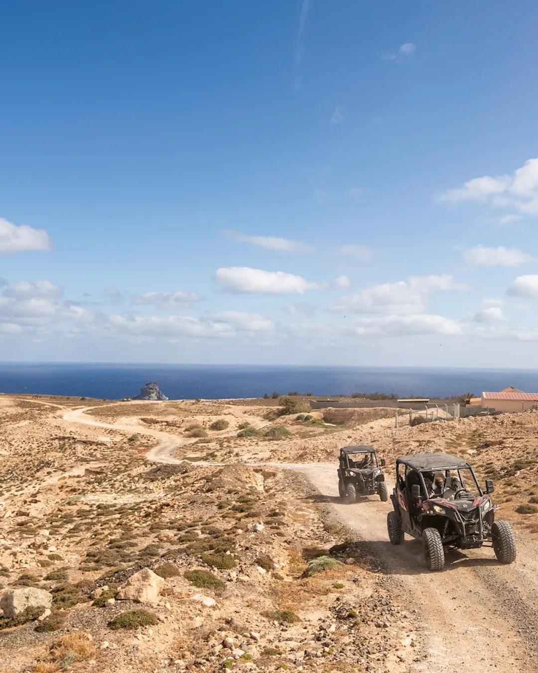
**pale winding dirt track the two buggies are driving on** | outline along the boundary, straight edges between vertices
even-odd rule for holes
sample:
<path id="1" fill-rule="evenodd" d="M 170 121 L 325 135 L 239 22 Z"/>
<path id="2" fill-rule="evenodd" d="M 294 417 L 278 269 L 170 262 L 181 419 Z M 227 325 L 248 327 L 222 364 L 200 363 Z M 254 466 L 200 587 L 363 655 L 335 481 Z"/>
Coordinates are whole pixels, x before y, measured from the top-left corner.
<path id="1" fill-rule="evenodd" d="M 67 411 L 63 419 L 156 437 L 159 445 L 147 454 L 148 460 L 181 462 L 171 454 L 191 441 L 138 425 L 95 421 L 84 414 L 87 410 Z M 453 553 L 443 573 L 430 573 L 424 568 L 420 542 L 389 543 L 385 522 L 390 503 L 377 497 L 355 505 L 339 503 L 334 464 L 273 465 L 307 476 L 319 491 L 319 500 L 334 507 L 340 520 L 373 551 L 383 572 L 391 575 L 399 599 L 408 598 L 408 610 L 416 610 L 416 628 L 428 658 L 408 671 L 538 671 L 538 545 L 534 540 L 517 537 L 518 558 L 509 566 L 500 565 L 491 548 L 483 548 Z M 403 665 L 397 670 L 404 670 Z"/>

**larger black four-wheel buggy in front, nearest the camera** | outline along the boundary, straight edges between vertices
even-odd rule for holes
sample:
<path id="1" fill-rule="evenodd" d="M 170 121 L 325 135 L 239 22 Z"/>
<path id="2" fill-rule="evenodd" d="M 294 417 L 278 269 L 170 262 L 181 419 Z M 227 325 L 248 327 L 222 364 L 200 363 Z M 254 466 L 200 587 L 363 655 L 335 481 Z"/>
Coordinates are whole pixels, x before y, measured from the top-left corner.
<path id="1" fill-rule="evenodd" d="M 416 454 L 396 461 L 394 511 L 387 515 L 392 544 L 403 534 L 422 539 L 430 570 L 445 566 L 445 550 L 493 546 L 500 563 L 512 563 L 516 544 L 510 524 L 495 521 L 493 481 L 480 489 L 473 468 L 450 454 Z"/>

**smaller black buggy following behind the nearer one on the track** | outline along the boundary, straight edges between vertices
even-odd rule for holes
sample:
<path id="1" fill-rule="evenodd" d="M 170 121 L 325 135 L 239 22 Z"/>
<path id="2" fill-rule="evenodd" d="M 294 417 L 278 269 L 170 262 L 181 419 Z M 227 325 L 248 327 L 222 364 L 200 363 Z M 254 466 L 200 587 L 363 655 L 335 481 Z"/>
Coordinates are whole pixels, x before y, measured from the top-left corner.
<path id="1" fill-rule="evenodd" d="M 385 484 L 385 475 L 381 468 L 385 460 L 377 460 L 375 449 L 371 446 L 344 446 L 340 449 L 338 467 L 338 493 L 350 503 L 356 502 L 359 495 L 379 493 L 383 502 L 389 499 Z"/>

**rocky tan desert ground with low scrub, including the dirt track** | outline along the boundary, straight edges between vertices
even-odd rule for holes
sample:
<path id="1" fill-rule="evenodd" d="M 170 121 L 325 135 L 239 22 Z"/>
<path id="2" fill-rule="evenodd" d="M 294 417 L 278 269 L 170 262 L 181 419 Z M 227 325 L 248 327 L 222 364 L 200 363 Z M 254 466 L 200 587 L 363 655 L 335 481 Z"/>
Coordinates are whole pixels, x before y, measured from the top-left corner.
<path id="1" fill-rule="evenodd" d="M 286 413 L 283 413 L 286 412 Z M 395 429 L 307 400 L 0 396 L 0 670 L 537 670 L 538 414 Z M 338 501 L 346 444 L 494 479 L 518 559 L 424 568 L 391 505 Z"/>

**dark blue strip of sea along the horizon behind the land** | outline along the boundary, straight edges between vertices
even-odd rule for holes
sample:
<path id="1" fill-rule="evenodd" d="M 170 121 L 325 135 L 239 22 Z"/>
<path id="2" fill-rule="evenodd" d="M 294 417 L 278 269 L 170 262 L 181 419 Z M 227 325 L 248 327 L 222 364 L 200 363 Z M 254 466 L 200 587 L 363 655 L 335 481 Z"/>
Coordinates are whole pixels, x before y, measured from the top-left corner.
<path id="1" fill-rule="evenodd" d="M 0 392 L 114 400 L 139 394 L 149 381 L 171 399 L 260 397 L 295 390 L 318 396 L 385 392 L 430 398 L 479 395 L 506 386 L 538 391 L 538 371 L 529 369 L 0 363 Z"/>

